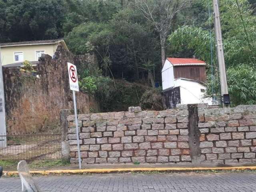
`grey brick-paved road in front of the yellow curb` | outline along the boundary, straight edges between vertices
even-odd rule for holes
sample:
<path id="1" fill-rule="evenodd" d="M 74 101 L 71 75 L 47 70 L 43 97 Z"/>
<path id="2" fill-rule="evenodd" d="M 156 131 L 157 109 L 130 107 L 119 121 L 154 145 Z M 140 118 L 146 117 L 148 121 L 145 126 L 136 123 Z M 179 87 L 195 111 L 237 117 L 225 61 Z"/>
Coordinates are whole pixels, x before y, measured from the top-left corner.
<path id="1" fill-rule="evenodd" d="M 104 174 L 35 177 L 47 192 L 256 192 L 256 174 Z M 1 178 L 0 192 L 20 191 L 19 178 Z"/>

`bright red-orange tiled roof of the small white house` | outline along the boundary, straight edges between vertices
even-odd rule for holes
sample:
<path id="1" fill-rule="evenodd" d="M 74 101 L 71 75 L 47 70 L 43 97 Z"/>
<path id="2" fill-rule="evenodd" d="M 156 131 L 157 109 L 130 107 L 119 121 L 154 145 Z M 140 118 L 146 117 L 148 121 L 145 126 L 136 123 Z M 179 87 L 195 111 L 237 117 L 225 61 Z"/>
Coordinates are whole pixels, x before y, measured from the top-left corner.
<path id="1" fill-rule="evenodd" d="M 173 66 L 190 66 L 190 65 L 201 65 L 205 66 L 206 63 L 195 58 L 167 58 Z"/>

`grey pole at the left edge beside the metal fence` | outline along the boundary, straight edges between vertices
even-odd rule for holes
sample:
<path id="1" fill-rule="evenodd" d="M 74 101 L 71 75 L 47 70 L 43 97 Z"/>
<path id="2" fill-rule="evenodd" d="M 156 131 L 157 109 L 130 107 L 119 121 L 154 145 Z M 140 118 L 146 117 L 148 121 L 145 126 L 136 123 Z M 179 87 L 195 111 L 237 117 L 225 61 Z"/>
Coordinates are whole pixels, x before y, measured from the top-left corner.
<path id="1" fill-rule="evenodd" d="M 5 135 L 5 136 L 2 136 Z M 6 147 L 6 122 L 5 122 L 5 104 L 4 104 L 4 79 L 2 70 L 2 57 L 0 47 L 0 148 Z"/>

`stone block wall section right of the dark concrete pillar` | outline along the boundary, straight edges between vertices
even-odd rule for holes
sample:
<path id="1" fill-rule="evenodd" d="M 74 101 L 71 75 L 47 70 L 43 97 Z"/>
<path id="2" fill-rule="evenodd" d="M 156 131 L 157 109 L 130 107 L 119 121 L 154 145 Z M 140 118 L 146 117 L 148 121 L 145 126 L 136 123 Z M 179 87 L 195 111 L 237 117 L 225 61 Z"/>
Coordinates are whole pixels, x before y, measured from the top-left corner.
<path id="1" fill-rule="evenodd" d="M 202 163 L 256 163 L 256 106 L 200 109 Z"/>

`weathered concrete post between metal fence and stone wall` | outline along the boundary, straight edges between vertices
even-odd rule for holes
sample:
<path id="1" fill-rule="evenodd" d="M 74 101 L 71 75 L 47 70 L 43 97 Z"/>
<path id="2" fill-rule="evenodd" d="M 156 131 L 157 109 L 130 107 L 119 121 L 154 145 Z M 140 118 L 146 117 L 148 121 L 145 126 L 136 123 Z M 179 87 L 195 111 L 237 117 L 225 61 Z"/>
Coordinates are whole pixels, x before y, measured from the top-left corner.
<path id="1" fill-rule="evenodd" d="M 61 150 L 62 160 L 70 161 L 70 148 L 68 143 L 68 109 L 60 110 Z"/>

